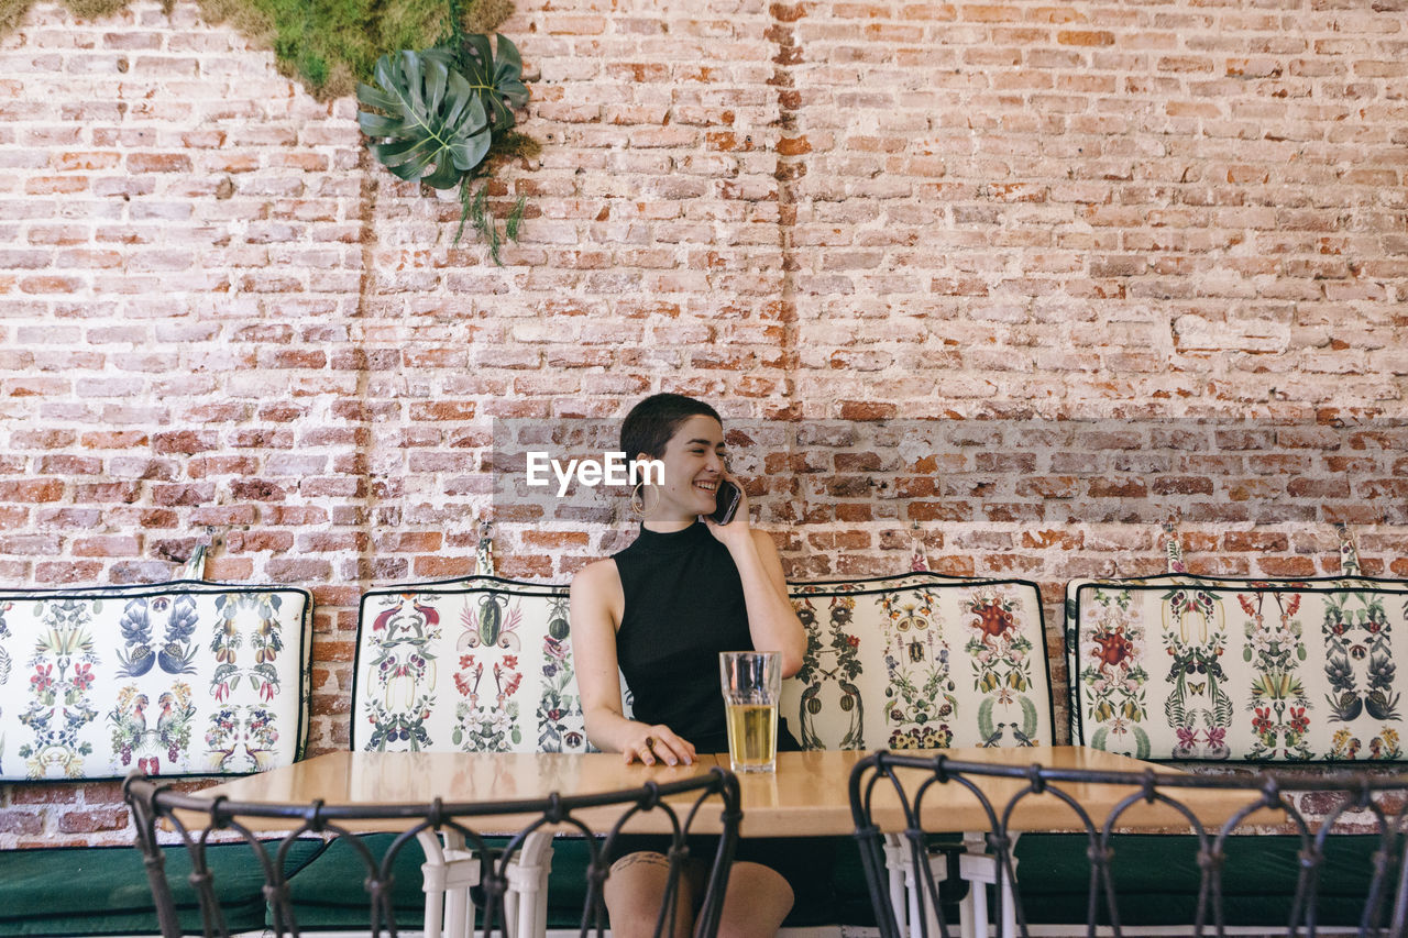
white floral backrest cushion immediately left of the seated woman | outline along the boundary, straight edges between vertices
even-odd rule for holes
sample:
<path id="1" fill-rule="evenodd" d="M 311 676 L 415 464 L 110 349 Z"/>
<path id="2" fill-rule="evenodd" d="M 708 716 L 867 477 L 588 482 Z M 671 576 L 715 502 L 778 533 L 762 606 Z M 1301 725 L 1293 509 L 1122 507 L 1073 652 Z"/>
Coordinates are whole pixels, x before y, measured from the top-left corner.
<path id="1" fill-rule="evenodd" d="M 586 752 L 567 587 L 469 576 L 369 590 L 352 748 Z"/>

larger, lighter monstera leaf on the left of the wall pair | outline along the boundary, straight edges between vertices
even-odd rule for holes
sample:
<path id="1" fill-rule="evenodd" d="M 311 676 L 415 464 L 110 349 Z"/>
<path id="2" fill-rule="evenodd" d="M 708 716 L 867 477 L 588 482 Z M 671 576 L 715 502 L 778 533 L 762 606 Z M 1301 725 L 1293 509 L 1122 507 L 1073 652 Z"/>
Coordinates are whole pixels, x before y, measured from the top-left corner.
<path id="1" fill-rule="evenodd" d="M 380 87 L 358 85 L 356 97 L 382 114 L 358 111 L 356 121 L 363 134 L 384 141 L 372 144 L 372 154 L 387 169 L 401 179 L 451 189 L 483 162 L 490 123 L 482 94 L 455 69 L 446 49 L 389 52 L 376 61 L 376 82 Z"/>

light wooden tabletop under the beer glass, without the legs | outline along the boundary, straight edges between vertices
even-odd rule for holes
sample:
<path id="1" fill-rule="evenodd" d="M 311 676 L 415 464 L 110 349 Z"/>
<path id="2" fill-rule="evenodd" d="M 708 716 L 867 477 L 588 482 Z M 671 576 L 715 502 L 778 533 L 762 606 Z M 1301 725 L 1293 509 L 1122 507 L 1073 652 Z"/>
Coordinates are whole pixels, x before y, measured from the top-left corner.
<path id="1" fill-rule="evenodd" d="M 1107 772 L 1142 772 L 1148 762 L 1086 746 L 1035 746 L 1022 749 L 950 749 L 953 759 L 995 765 L 1095 769 Z M 818 751 L 781 752 L 777 772 L 741 775 L 743 837 L 836 837 L 853 831 L 846 782 L 865 752 Z M 328 806 L 373 806 L 444 801 L 538 799 L 556 792 L 563 796 L 596 794 L 639 787 L 648 779 L 674 782 L 728 765 L 728 755 L 701 753 L 693 766 L 625 765 L 618 753 L 449 753 L 449 752 L 331 752 L 290 766 L 272 769 L 211 789 L 197 796 L 225 796 L 237 801 L 310 803 L 322 799 Z M 1169 772 L 1160 768 L 1160 772 Z M 915 773 L 922 777 L 924 773 Z M 1025 783 L 986 779 L 983 790 L 1004 804 Z M 1102 784 L 1066 784 L 1091 815 L 1104 814 L 1129 793 L 1128 787 Z M 1218 823 L 1231 810 L 1245 804 L 1246 792 L 1180 793 L 1204 821 Z M 957 784 L 935 789 L 925 799 L 925 827 L 931 831 L 987 830 L 987 817 L 977 800 Z M 893 807 L 890 807 L 893 806 Z M 904 820 L 894 797 L 879 797 L 876 823 L 884 831 L 900 831 Z M 646 818 L 642 818 L 646 820 Z M 1267 818 L 1266 823 L 1274 823 Z M 663 824 L 665 820 L 659 818 Z M 696 821 L 701 832 L 717 832 L 718 817 L 701 813 Z M 1256 823 L 1253 820 L 1252 823 Z M 497 831 L 518 830 L 515 818 L 497 821 Z M 270 824 L 273 830 L 277 824 Z M 284 825 L 286 827 L 286 825 Z M 363 825 L 359 824 L 359 828 Z M 398 830 L 396 821 L 369 823 L 365 830 Z M 1074 830 L 1076 817 L 1050 796 L 1031 799 L 1012 820 L 1014 831 Z M 1187 830 L 1181 818 L 1167 808 L 1139 806 L 1121 824 L 1122 830 Z M 650 827 L 632 827 L 648 831 Z M 665 830 L 663 827 L 658 830 Z"/>

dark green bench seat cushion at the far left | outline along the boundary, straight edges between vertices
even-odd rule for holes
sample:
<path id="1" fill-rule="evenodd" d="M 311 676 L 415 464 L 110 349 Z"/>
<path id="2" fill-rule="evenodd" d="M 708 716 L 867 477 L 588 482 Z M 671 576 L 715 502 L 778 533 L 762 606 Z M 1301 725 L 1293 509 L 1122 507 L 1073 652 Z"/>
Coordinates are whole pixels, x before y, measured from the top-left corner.
<path id="1" fill-rule="evenodd" d="M 289 853 L 296 873 L 324 848 L 300 839 Z M 166 875 L 182 928 L 200 934 L 200 911 L 191 887 L 190 855 L 168 846 Z M 207 848 L 207 863 L 231 931 L 265 925 L 263 876 L 245 844 Z M 0 852 L 0 935 L 158 934 L 142 856 L 131 846 L 75 846 Z"/>

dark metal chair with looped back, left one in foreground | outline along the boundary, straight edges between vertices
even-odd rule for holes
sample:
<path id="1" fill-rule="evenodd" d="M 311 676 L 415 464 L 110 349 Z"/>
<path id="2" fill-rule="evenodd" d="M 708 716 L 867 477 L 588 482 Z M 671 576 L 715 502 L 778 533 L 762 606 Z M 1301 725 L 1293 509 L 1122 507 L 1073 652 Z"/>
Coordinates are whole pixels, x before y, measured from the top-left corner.
<path id="1" fill-rule="evenodd" d="M 586 838 L 590 862 L 586 870 L 586 900 L 582 910 L 580 934 L 605 934 L 607 915 L 603 884 L 610 875 L 610 856 L 628 821 L 655 814 L 666 818 L 663 827 L 670 834 L 667 858 L 670 873 L 666 896 L 656 920 L 655 935 L 672 935 L 676 918 L 676 897 L 684 863 L 690 859 L 686 838 L 700 811 L 721 810 L 722 835 L 712 855 L 700 858 L 707 863 L 705 892 L 696 917 L 696 938 L 708 938 L 718 931 L 728 884 L 734 849 L 738 842 L 739 810 L 738 779 L 725 769 L 710 775 L 670 783 L 646 783 L 639 789 L 603 794 L 560 797 L 549 796 L 524 801 L 469 801 L 396 806 L 325 806 L 311 804 L 239 803 L 228 799 L 204 799 L 183 794 L 139 775 L 130 776 L 124 797 L 137 828 L 137 846 L 142 852 L 148 880 L 156 904 L 158 921 L 165 938 L 177 938 L 183 924 L 199 920 L 191 934 L 207 938 L 228 938 L 227 915 L 220 903 L 220 883 L 215 882 L 207 853 L 217 844 L 231 841 L 249 849 L 249 866 L 262 873 L 262 894 L 268 903 L 269 927 L 276 935 L 298 935 L 294 906 L 290 901 L 290 876 L 286 865 L 290 848 L 300 838 L 318 837 L 341 839 L 351 845 L 366 869 L 365 890 L 369 910 L 370 935 L 397 935 L 397 921 L 391 906 L 391 868 L 400 852 L 417 841 L 422 832 L 452 832 L 480 858 L 474 893 L 482 896 L 479 928 L 474 910 L 459 910 L 455 918 L 455 938 L 477 934 L 510 935 L 514 930 L 513 910 L 507 900 L 513 892 L 515 859 L 529 835 L 538 831 L 559 831 Z M 500 820 L 501 818 L 501 820 Z M 527 820 L 525 820 L 527 818 Z M 382 858 L 365 846 L 358 837 L 367 830 L 394 828 L 400 832 Z M 279 831 L 270 835 L 268 831 Z M 491 846 L 491 835 L 508 832 L 505 845 Z M 270 839 L 273 837 L 273 839 Z M 501 838 L 500 838 L 501 839 Z M 541 838 L 538 838 L 541 839 Z M 163 841 L 168 846 L 163 849 Z M 696 841 L 697 842 L 697 841 Z M 184 914 L 173 899 L 172 882 L 165 865 L 166 851 L 186 851 L 190 859 L 190 884 L 199 897 L 199 911 Z M 222 848 L 224 849 L 224 848 Z M 315 861 L 314 861 L 315 863 Z M 290 863 L 291 865 L 291 863 Z M 224 866 L 224 863 L 222 863 Z M 431 889 L 427 887 L 431 893 Z M 460 894 L 467 894 L 462 890 Z M 434 900 L 438 893 L 431 893 Z M 451 910 L 455 911 L 455 910 Z M 184 918 L 184 923 L 182 921 Z M 238 930 L 235 930 L 238 931 Z M 448 928 L 449 931 L 449 928 Z"/>

